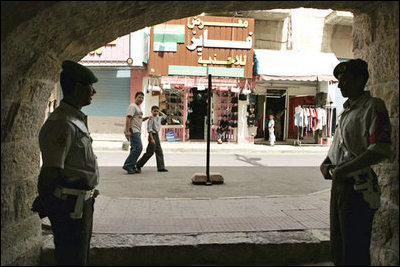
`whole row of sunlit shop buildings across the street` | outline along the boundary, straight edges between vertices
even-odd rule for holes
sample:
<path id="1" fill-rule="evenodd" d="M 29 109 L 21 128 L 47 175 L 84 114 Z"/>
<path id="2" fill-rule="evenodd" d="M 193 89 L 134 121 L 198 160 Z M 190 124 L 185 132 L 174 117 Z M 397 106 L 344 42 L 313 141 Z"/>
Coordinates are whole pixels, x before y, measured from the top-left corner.
<path id="1" fill-rule="evenodd" d="M 345 99 L 331 70 L 353 57 L 351 13 L 299 8 L 215 15 L 168 21 L 88 53 L 80 63 L 99 77 L 96 101 L 84 108 L 91 131 L 120 133 L 126 107 L 143 91 L 146 115 L 153 105 L 169 115 L 162 140 L 167 133 L 174 141 L 204 140 L 207 74 L 213 75 L 213 140 L 223 115 L 232 126 L 229 141 L 253 142 L 268 139 L 271 113 L 277 140 L 296 139 L 295 105 L 319 106 L 323 98 L 339 114 Z M 246 100 L 239 100 L 241 92 Z"/>

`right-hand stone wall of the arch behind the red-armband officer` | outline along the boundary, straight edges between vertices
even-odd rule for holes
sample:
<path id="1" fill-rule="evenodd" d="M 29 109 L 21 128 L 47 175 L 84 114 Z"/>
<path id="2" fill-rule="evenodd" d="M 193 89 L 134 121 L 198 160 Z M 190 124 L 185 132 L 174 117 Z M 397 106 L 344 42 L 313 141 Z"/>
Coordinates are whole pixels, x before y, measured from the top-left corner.
<path id="1" fill-rule="evenodd" d="M 354 17 L 354 54 L 368 62 L 368 89 L 383 99 L 392 124 L 393 157 L 375 167 L 382 189 L 373 228 L 373 265 L 399 264 L 399 4 L 380 2 Z"/>

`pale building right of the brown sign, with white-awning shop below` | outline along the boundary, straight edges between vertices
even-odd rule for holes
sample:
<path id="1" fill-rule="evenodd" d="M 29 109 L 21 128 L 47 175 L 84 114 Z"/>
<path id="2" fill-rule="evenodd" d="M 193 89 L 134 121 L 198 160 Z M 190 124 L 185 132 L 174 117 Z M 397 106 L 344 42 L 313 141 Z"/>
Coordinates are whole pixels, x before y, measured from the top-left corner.
<path id="1" fill-rule="evenodd" d="M 268 117 L 274 114 L 277 140 L 297 139 L 294 110 L 302 105 L 323 107 L 330 113 L 327 124 L 334 124 L 333 115 L 340 113 L 345 99 L 332 72 L 340 61 L 353 58 L 353 15 L 305 8 L 244 11 L 241 15 L 255 19 L 256 137 L 268 140 Z M 300 137 L 322 143 L 321 138 L 329 141 L 332 128 L 321 132 L 308 128 Z"/>

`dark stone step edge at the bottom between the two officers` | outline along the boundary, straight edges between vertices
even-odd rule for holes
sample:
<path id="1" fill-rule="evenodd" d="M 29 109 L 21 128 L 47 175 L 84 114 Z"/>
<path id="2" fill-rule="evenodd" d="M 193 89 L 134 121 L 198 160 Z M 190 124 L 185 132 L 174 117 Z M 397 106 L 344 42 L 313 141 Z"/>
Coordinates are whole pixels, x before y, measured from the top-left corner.
<path id="1" fill-rule="evenodd" d="M 53 265 L 52 236 L 41 265 Z M 93 234 L 90 265 L 299 265 L 329 262 L 329 230 L 193 234 Z"/>

